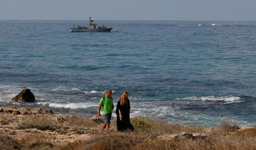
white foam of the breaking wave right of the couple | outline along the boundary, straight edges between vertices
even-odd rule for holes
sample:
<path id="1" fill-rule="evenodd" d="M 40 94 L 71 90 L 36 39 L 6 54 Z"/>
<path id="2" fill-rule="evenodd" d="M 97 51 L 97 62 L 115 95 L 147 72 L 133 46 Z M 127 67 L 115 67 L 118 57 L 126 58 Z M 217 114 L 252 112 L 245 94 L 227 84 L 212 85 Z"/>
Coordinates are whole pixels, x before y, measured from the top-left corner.
<path id="1" fill-rule="evenodd" d="M 241 102 L 241 98 L 238 96 L 191 96 L 186 98 L 181 98 L 181 100 L 209 100 L 209 101 L 220 101 L 225 103 L 235 103 L 235 102 Z"/>

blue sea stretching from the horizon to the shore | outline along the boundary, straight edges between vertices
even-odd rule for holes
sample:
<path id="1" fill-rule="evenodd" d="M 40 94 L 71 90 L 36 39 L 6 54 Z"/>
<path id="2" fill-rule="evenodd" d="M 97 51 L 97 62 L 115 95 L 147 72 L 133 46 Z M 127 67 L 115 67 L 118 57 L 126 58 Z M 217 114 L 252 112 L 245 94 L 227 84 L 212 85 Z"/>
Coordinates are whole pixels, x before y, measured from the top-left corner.
<path id="1" fill-rule="evenodd" d="M 95 115 L 111 88 L 131 115 L 193 125 L 256 125 L 256 22 L 0 21 L 0 105 Z M 214 24 L 213 24 L 214 23 Z M 22 88 L 37 102 L 11 104 Z"/>

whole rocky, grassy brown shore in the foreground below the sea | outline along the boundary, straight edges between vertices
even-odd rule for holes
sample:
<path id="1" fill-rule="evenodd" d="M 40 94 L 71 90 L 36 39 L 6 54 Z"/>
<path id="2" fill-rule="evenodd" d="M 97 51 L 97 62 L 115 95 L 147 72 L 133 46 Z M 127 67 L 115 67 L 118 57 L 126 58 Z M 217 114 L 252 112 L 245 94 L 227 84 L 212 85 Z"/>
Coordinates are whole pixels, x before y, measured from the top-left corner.
<path id="1" fill-rule="evenodd" d="M 100 120 L 41 108 L 0 108 L 1 149 L 250 149 L 256 127 L 170 125 L 132 118 L 134 132 L 100 134 Z M 192 147 L 191 147 L 192 146 Z"/>

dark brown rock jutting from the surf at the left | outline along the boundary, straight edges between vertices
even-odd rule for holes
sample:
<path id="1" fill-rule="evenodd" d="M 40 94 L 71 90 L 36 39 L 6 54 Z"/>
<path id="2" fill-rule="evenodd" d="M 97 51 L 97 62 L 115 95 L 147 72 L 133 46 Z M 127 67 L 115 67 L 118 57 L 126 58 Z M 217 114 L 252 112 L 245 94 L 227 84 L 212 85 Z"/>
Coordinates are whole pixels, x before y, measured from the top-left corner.
<path id="1" fill-rule="evenodd" d="M 21 93 L 19 93 L 17 96 L 15 96 L 14 98 L 11 99 L 11 102 L 34 102 L 35 96 L 33 95 L 33 93 L 31 92 L 30 89 L 24 89 L 21 91 Z"/>

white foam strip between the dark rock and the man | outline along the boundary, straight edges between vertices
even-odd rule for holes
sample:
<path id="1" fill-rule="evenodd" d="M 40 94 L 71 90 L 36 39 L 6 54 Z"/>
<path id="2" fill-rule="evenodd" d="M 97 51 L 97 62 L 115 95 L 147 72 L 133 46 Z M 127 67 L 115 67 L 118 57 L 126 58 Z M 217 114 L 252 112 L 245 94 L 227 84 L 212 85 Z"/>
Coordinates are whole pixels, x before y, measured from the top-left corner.
<path id="1" fill-rule="evenodd" d="M 97 107 L 97 103 L 49 103 L 49 102 L 38 102 L 38 105 L 47 105 L 51 108 L 70 108 L 70 109 L 79 109 L 79 108 L 92 108 Z"/>

